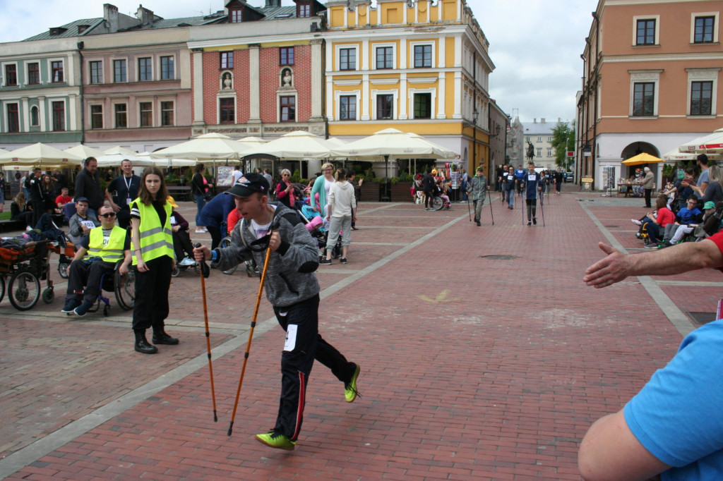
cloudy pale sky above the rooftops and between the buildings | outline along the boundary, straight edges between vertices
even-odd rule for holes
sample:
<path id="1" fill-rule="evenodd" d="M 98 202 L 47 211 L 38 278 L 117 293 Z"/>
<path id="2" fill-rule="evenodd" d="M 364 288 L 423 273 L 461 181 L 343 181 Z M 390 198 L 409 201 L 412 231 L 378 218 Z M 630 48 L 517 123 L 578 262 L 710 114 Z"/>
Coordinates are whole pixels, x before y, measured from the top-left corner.
<path id="1" fill-rule="evenodd" d="M 467 0 L 497 67 L 492 98 L 521 121 L 572 120 L 580 90 L 580 54 L 598 0 Z M 22 40 L 49 27 L 103 16 L 100 0 L 0 0 L 0 42 Z M 107 0 L 124 14 L 138 4 L 164 18 L 192 17 L 223 9 L 223 0 Z M 261 6 L 263 0 L 249 0 Z M 282 0 L 291 5 L 291 0 Z"/>

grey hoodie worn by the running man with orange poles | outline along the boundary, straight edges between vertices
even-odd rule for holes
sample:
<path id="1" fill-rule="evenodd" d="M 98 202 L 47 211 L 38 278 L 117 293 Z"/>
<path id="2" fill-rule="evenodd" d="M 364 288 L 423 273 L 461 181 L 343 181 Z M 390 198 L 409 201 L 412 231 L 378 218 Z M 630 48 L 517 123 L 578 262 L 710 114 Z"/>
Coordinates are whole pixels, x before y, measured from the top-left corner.
<path id="1" fill-rule="evenodd" d="M 266 298 L 274 307 L 281 308 L 310 299 L 319 293 L 319 282 L 314 274 L 319 267 L 319 247 L 294 210 L 281 202 L 269 204 L 276 207 L 272 225 L 281 235 L 281 245 L 271 252 L 269 259 L 265 281 Z M 257 239 L 251 230 L 251 222 L 239 221 L 231 233 L 231 245 L 215 249 L 218 260 L 213 265 L 225 271 L 253 256 L 261 269 L 266 250 L 252 251 L 248 246 L 255 241 Z M 263 241 L 263 238 L 260 241 Z M 260 245 L 264 246 L 266 242 L 268 240 Z"/>

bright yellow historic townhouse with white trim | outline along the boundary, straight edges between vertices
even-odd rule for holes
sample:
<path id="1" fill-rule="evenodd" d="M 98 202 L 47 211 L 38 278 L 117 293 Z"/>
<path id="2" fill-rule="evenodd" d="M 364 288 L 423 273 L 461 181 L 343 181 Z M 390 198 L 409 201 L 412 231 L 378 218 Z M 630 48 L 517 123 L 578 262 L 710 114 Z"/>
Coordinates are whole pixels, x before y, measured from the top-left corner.
<path id="1" fill-rule="evenodd" d="M 354 140 L 389 127 L 413 131 L 459 152 L 468 170 L 487 168 L 487 89 L 495 66 L 469 6 L 463 0 L 376 3 L 327 3 L 329 135 Z"/>

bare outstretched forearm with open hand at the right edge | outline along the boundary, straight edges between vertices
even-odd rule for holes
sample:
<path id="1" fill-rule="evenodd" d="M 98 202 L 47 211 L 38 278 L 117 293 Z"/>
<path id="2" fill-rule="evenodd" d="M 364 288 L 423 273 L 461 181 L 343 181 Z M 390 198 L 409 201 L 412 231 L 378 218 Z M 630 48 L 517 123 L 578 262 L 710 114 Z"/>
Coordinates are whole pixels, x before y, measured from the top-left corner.
<path id="1" fill-rule="evenodd" d="M 713 241 L 686 242 L 662 251 L 632 256 L 602 242 L 598 246 L 608 256 L 588 267 L 583 277 L 583 282 L 596 288 L 607 287 L 628 276 L 665 276 L 706 267 L 723 267 L 723 254 Z"/>

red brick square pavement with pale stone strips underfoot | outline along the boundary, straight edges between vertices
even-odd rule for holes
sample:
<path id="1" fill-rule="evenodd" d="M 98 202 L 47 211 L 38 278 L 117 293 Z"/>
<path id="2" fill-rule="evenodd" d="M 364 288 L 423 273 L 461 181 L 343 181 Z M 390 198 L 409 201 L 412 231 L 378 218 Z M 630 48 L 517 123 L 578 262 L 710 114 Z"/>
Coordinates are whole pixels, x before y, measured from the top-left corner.
<path id="1" fill-rule="evenodd" d="M 0 478 L 578 480 L 591 421 L 667 362 L 697 326 L 689 313 L 714 312 L 723 278 L 591 289 L 581 277 L 599 241 L 643 250 L 630 222 L 641 199 L 566 191 L 546 199 L 544 227 L 542 209 L 526 227 L 521 202 L 492 199 L 495 225 L 487 205 L 481 228 L 465 204 L 360 204 L 349 264 L 318 275 L 320 330 L 361 365 L 361 397 L 344 402 L 317 365 L 293 452 L 253 438 L 273 426 L 280 386 L 283 332 L 265 299 L 226 435 L 257 278 L 213 271 L 206 282 L 214 423 L 197 274 L 171 285 L 168 332 L 181 344 L 140 355 L 115 300 L 107 317 L 61 314 L 53 270 L 54 303 L 0 303 Z M 181 204 L 188 220 L 194 209 Z"/>

